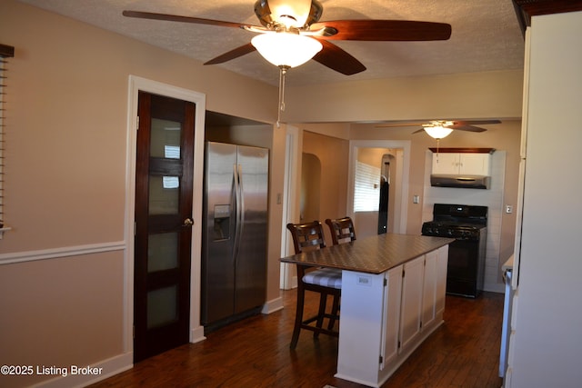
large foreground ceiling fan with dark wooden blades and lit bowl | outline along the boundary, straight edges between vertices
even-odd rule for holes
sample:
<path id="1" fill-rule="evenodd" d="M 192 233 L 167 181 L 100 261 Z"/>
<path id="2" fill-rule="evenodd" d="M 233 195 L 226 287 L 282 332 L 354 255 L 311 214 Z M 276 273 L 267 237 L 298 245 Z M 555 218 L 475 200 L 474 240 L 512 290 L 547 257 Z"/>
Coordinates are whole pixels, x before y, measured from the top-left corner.
<path id="1" fill-rule="evenodd" d="M 235 27 L 258 34 L 251 43 L 216 56 L 216 58 L 207 61 L 205 65 L 222 64 L 258 50 L 269 62 L 279 67 L 295 67 L 313 58 L 321 65 L 325 65 L 344 75 L 355 75 L 363 72 L 366 70 L 366 66 L 330 41 L 432 41 L 447 40 L 451 35 L 451 26 L 444 23 L 406 20 L 335 20 L 319 22 L 323 14 L 323 5 L 318 0 L 257 0 L 255 14 L 261 25 L 246 25 L 244 23 L 184 15 L 166 15 L 141 11 L 123 12 L 123 15 L 127 17 Z M 281 44 L 283 37 L 287 40 Z M 270 43 L 272 40 L 276 40 L 276 42 Z M 290 42 L 296 42 L 296 45 L 298 45 L 296 51 L 292 49 Z M 268 45 L 269 43 L 270 45 Z M 263 48 L 262 44 L 267 45 L 268 48 Z M 313 48 L 306 48 L 309 46 Z M 299 60 L 298 57 L 304 51 L 307 52 L 306 56 Z M 273 54 L 274 52 L 277 52 L 276 55 L 284 55 L 284 62 L 287 61 L 289 63 L 271 61 L 269 55 L 276 56 Z M 268 55 L 265 53 L 268 53 Z M 278 56 L 277 60 L 280 60 Z"/>

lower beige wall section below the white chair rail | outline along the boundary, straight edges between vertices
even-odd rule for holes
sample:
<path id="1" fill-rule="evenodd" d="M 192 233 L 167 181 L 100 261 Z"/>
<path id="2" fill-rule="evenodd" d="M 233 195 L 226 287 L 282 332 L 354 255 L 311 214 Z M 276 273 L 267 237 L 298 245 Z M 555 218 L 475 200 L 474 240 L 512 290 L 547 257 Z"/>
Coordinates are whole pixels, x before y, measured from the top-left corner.
<path id="1" fill-rule="evenodd" d="M 85 367 L 125 353 L 123 280 L 109 252 L 1 265 L 2 364 Z M 45 379 L 3 375 L 0 385 Z"/>

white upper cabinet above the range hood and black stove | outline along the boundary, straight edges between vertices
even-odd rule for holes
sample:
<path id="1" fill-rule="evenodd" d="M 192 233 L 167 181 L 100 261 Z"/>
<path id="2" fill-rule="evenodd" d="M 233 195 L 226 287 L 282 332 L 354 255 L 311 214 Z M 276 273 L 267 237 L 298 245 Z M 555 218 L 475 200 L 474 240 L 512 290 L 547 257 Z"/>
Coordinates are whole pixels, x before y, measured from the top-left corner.
<path id="1" fill-rule="evenodd" d="M 490 175 L 491 154 L 433 153 L 433 174 Z"/>

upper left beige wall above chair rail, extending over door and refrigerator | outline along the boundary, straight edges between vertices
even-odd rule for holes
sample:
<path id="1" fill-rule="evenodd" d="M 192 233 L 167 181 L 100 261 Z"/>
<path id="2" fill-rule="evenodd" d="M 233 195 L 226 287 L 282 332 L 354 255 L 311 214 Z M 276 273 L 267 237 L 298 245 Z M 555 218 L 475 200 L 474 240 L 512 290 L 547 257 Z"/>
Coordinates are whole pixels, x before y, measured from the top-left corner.
<path id="1" fill-rule="evenodd" d="M 129 75 L 204 93 L 207 109 L 275 120 L 275 87 L 10 0 L 0 17 L 16 51 L 5 211 L 18 233 L 3 253 L 123 239 Z"/>

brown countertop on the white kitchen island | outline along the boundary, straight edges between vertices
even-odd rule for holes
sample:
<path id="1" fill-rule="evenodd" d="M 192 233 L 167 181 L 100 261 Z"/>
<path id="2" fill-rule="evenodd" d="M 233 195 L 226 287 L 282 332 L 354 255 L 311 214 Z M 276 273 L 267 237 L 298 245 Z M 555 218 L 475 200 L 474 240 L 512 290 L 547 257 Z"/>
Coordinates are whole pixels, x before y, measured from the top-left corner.
<path id="1" fill-rule="evenodd" d="M 351 243 L 294 254 L 284 263 L 339 268 L 367 274 L 382 274 L 422 254 L 451 244 L 455 239 L 412 234 L 379 234 Z"/>

